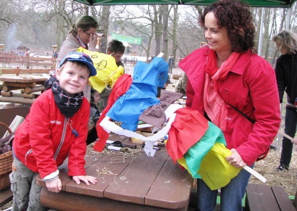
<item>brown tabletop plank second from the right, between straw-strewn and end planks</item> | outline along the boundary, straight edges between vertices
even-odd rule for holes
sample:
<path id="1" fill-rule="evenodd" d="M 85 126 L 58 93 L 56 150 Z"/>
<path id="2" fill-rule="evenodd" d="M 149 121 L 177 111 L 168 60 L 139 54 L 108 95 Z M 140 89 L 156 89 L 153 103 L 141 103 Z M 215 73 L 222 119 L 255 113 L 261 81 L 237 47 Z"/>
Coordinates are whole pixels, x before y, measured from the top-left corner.
<path id="1" fill-rule="evenodd" d="M 144 204 L 153 181 L 168 158 L 166 151 L 148 157 L 144 152 L 124 169 L 104 191 L 104 197 L 122 202 Z"/>

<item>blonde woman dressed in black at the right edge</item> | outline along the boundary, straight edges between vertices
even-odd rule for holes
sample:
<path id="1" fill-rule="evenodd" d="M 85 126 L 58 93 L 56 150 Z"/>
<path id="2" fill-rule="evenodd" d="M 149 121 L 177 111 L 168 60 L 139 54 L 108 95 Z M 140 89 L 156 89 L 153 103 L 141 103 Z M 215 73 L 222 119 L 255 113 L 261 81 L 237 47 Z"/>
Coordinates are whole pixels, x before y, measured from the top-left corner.
<path id="1" fill-rule="evenodd" d="M 279 91 L 280 103 L 287 93 L 285 133 L 294 138 L 297 127 L 297 34 L 284 30 L 272 39 L 282 55 L 277 59 L 275 74 Z M 277 171 L 289 170 L 292 158 L 293 143 L 283 138 L 282 155 Z"/>

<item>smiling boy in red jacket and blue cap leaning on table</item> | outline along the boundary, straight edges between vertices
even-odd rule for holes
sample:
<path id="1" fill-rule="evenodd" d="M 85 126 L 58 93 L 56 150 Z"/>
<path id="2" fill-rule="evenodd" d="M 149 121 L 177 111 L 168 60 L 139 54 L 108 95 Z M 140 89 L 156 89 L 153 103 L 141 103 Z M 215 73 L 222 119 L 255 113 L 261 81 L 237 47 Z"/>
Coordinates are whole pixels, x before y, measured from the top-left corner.
<path id="1" fill-rule="evenodd" d="M 69 53 L 61 61 L 48 89 L 32 104 L 13 141 L 13 171 L 9 175 L 13 192 L 12 210 L 45 210 L 40 204 L 40 174 L 51 192 L 61 191 L 58 166 L 68 157 L 68 175 L 80 184 L 97 182 L 87 176 L 86 139 L 90 103 L 83 90 L 90 76 L 97 74 L 91 58 Z"/>

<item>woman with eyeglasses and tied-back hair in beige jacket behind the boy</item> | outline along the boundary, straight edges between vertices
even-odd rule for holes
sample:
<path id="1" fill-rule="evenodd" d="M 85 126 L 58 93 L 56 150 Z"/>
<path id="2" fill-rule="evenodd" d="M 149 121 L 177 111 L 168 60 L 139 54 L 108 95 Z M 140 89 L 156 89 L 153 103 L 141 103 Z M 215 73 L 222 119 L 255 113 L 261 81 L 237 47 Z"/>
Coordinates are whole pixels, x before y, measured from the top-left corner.
<path id="1" fill-rule="evenodd" d="M 90 51 L 99 52 L 96 49 L 97 38 L 96 30 L 99 24 L 92 16 L 83 16 L 79 18 L 72 29 L 68 32 L 66 40 L 63 42 L 57 58 L 57 67 L 61 60 L 71 52 L 76 52 L 79 47 Z M 89 44 L 89 46 L 88 46 Z"/>

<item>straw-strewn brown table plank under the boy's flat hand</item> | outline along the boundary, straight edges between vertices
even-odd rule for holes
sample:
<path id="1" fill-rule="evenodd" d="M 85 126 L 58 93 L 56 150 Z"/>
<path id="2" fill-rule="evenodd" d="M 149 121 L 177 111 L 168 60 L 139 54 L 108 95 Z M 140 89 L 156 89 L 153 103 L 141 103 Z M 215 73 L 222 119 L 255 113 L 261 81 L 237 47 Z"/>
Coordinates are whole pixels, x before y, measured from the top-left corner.
<path id="1" fill-rule="evenodd" d="M 89 196 L 97 196 L 102 198 L 104 190 L 108 185 L 129 165 L 132 157 L 124 158 L 124 156 L 102 157 L 98 161 L 92 163 L 87 169 L 87 175 L 97 177 L 96 184 L 86 185 L 84 182 L 76 184 L 73 180 L 66 184 L 66 191 Z M 100 174 L 104 168 L 110 169 L 113 175 Z"/>

